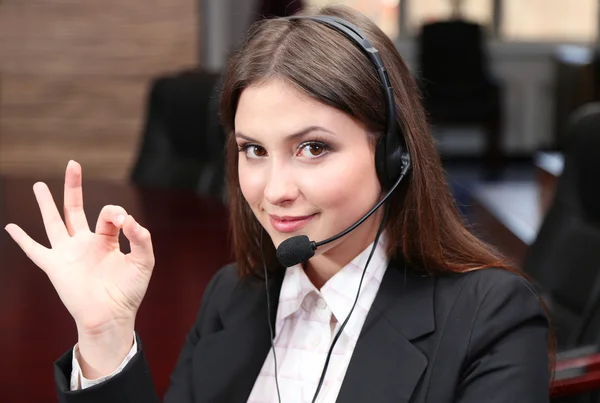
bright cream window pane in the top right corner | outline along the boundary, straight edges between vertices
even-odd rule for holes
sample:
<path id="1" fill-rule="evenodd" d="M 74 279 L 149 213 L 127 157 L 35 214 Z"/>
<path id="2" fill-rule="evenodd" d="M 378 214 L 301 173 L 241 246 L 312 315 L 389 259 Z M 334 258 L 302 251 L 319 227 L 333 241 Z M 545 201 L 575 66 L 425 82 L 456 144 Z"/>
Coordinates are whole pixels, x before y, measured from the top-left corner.
<path id="1" fill-rule="evenodd" d="M 502 9 L 507 41 L 593 42 L 598 32 L 598 0 L 503 0 Z"/>

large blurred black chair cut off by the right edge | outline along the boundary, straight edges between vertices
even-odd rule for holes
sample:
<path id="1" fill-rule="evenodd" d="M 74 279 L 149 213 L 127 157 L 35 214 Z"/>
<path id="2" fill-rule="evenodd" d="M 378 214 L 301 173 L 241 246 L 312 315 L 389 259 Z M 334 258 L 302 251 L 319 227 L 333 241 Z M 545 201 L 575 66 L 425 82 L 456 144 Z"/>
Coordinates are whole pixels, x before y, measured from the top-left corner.
<path id="1" fill-rule="evenodd" d="M 573 114 L 565 151 L 554 199 L 523 264 L 547 294 L 561 349 L 600 342 L 600 327 L 584 329 L 597 311 L 590 299 L 600 299 L 600 103 Z"/>

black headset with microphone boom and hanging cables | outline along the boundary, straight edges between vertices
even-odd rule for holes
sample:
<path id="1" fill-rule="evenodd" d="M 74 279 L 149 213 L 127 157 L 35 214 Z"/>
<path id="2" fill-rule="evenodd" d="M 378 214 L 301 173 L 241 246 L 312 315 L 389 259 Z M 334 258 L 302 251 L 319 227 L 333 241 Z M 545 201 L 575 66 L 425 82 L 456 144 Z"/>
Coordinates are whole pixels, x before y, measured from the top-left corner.
<path id="1" fill-rule="evenodd" d="M 348 227 L 346 230 L 340 232 L 337 235 L 334 235 L 324 241 L 315 242 L 311 241 L 306 235 L 298 235 L 283 241 L 279 247 L 277 248 L 277 259 L 284 267 L 291 267 L 299 263 L 306 262 L 312 256 L 314 256 L 315 251 L 318 247 L 328 244 L 337 240 L 338 238 L 343 237 L 349 232 L 353 231 L 356 227 L 366 221 L 371 215 L 375 213 L 392 195 L 392 193 L 396 190 L 402 179 L 411 168 L 411 157 L 408 149 L 405 145 L 404 136 L 401 128 L 397 124 L 396 121 L 396 107 L 394 102 L 394 91 L 387 73 L 383 61 L 381 60 L 381 56 L 379 51 L 373 46 L 371 41 L 352 23 L 335 16 L 291 16 L 286 17 L 288 20 L 312 20 L 324 24 L 325 26 L 343 34 L 349 40 L 351 40 L 356 47 L 358 47 L 366 56 L 369 57 L 371 62 L 373 63 L 375 69 L 377 70 L 377 74 L 379 76 L 379 80 L 381 81 L 381 86 L 385 98 L 385 107 L 386 107 L 386 130 L 383 133 L 383 138 L 377 142 L 375 149 L 375 168 L 377 171 L 377 177 L 383 187 L 383 189 L 387 190 L 385 196 L 364 216 L 362 216 L 358 221 Z M 363 278 L 367 271 L 367 267 L 369 266 L 369 262 L 371 261 L 371 257 L 375 252 L 375 248 L 377 246 L 379 237 L 383 232 L 385 227 L 385 221 L 387 219 L 387 214 L 389 211 L 389 205 L 385 206 L 383 218 L 379 229 L 377 231 L 377 235 L 375 236 L 375 241 L 373 242 L 373 247 L 371 249 L 371 253 L 367 259 L 365 264 L 365 268 L 362 273 L 362 277 L 360 279 L 360 283 L 358 285 L 358 291 L 356 294 L 356 299 L 354 300 L 354 305 L 352 306 L 348 316 L 338 329 L 331 347 L 329 348 L 329 352 L 327 354 L 327 359 L 325 361 L 323 371 L 321 373 L 321 377 L 319 379 L 319 384 L 313 396 L 312 402 L 316 402 L 319 391 L 321 390 L 321 386 L 323 385 L 323 381 L 325 379 L 325 374 L 327 372 L 327 367 L 329 365 L 329 360 L 331 358 L 331 354 L 333 352 L 333 348 L 339 339 L 344 327 L 348 323 L 350 319 L 350 315 L 354 311 L 354 307 L 358 301 L 358 297 L 360 295 L 360 289 L 362 286 Z M 263 253 L 263 233 L 264 230 L 261 231 L 260 236 L 260 249 L 261 254 Z M 271 323 L 271 306 L 270 306 L 270 298 L 269 298 L 269 286 L 268 286 L 268 273 L 266 262 L 264 258 L 264 254 L 262 255 L 263 266 L 264 266 L 264 275 L 265 275 L 265 287 L 267 292 L 267 316 L 269 321 L 269 329 L 271 332 L 271 348 L 273 350 L 273 359 L 275 361 L 275 383 L 277 387 L 277 396 L 279 402 L 281 403 L 281 395 L 279 391 L 279 382 L 277 379 L 277 356 L 275 354 L 275 345 L 274 345 L 274 335 L 273 335 L 273 325 Z"/>

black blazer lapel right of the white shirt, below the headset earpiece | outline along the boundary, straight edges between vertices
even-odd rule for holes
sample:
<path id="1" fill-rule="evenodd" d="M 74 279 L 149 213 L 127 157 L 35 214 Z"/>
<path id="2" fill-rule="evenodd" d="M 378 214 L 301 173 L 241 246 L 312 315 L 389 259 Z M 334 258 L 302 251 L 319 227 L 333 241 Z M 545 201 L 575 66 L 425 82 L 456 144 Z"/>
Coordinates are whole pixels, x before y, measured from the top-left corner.
<path id="1" fill-rule="evenodd" d="M 392 262 L 369 311 L 338 403 L 408 402 L 427 367 L 411 340 L 434 331 L 433 277 Z"/>

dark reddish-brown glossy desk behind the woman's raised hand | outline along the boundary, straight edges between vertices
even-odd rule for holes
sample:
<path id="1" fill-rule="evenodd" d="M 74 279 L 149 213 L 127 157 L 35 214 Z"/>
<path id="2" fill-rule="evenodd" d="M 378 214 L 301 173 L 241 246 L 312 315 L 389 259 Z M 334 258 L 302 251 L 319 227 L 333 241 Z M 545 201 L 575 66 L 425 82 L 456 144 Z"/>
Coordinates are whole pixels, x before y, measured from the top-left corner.
<path id="1" fill-rule="evenodd" d="M 34 182 L 0 176 L 0 224 L 17 223 L 49 246 Z M 62 210 L 62 181 L 46 183 Z M 136 330 L 162 396 L 204 287 L 232 260 L 227 209 L 219 201 L 185 192 L 104 182 L 84 180 L 83 192 L 92 228 L 105 204 L 118 204 L 152 234 L 156 266 Z M 55 402 L 52 364 L 77 341 L 74 322 L 46 275 L 4 230 L 0 259 L 0 400 Z"/>

